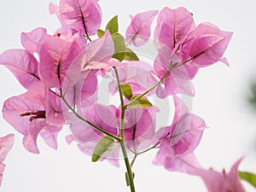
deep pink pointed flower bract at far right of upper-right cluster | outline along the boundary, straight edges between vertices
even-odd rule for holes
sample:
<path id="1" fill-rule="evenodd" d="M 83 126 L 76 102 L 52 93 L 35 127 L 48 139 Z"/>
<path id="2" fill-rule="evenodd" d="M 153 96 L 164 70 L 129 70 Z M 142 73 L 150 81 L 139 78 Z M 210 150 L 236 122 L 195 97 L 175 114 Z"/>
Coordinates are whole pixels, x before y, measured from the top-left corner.
<path id="1" fill-rule="evenodd" d="M 227 49 L 232 32 L 224 32 L 210 23 L 201 23 L 190 32 L 183 42 L 183 61 L 192 60 L 195 67 L 207 67 L 217 61 L 228 62 L 222 58 Z"/>

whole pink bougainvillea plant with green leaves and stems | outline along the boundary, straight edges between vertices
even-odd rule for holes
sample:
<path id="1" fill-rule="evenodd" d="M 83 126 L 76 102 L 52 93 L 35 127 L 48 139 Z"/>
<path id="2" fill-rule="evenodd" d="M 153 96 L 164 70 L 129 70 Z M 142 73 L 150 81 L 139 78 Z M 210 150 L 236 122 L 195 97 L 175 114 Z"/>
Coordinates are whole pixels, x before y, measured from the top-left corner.
<path id="1" fill-rule="evenodd" d="M 125 161 L 131 192 L 136 191 L 132 166 L 151 149 L 157 151 L 155 165 L 199 176 L 211 192 L 245 191 L 237 171 L 241 160 L 227 173 L 207 170 L 196 159 L 194 151 L 207 125 L 182 99 L 195 95 L 191 80 L 201 67 L 218 61 L 229 65 L 223 55 L 232 32 L 211 23 L 196 25 L 185 8 L 134 15 L 125 35 L 119 33 L 118 16 L 101 26 L 96 0 L 61 0 L 59 5 L 50 3 L 49 12 L 57 15 L 61 28 L 54 34 L 45 28 L 22 32 L 24 49 L 0 55 L 0 64 L 26 89 L 4 102 L 3 118 L 24 136 L 29 152 L 39 153 L 38 137 L 57 149 L 58 133 L 66 125 L 71 132 L 67 143 L 77 143 L 93 162 L 108 160 L 119 166 Z M 151 63 L 133 50 L 146 44 L 157 52 Z M 100 102 L 102 79 L 111 79 L 105 94 L 119 101 Z M 170 125 L 158 127 L 156 113 L 161 111 L 153 96 L 172 99 Z M 0 138 L 0 181 L 13 143 L 14 135 Z"/>

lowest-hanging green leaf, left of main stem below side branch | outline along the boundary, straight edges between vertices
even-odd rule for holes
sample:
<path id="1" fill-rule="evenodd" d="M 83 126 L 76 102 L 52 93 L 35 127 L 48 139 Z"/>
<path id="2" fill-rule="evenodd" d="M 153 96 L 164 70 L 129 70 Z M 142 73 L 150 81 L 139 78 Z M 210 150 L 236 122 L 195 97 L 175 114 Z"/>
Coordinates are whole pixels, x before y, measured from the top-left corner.
<path id="1" fill-rule="evenodd" d="M 105 157 L 108 154 L 112 153 L 115 148 L 117 148 L 117 143 L 114 142 L 112 137 L 106 136 L 101 139 L 99 143 L 96 144 L 96 147 L 93 150 L 91 157 L 92 162 L 100 160 L 101 157 Z"/>

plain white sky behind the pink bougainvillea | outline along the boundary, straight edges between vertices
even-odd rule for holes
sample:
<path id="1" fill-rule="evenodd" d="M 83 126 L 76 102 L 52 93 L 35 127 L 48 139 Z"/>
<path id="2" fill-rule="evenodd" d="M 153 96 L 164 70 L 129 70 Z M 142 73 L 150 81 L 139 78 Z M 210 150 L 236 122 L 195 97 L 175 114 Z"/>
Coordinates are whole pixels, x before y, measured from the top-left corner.
<path id="1" fill-rule="evenodd" d="M 44 26 L 49 33 L 59 27 L 55 15 L 49 15 L 49 2 L 57 0 L 1 0 L 0 52 L 21 48 L 20 32 Z M 125 32 L 128 15 L 166 6 L 183 6 L 194 14 L 195 22 L 212 22 L 221 29 L 234 32 L 225 55 L 230 67 L 217 64 L 201 69 L 194 79 L 193 113 L 206 120 L 209 127 L 196 149 L 203 166 L 228 170 L 241 156 L 240 170 L 256 172 L 256 113 L 248 108 L 246 96 L 250 80 L 256 77 L 256 2 L 254 0 L 109 0 L 102 6 L 105 26 L 113 15 L 119 15 L 119 27 Z M 255 78 L 256 79 L 256 78 Z M 0 103 L 24 90 L 4 67 L 0 67 Z M 15 146 L 7 165 L 0 191 L 3 192 L 102 192 L 129 191 L 125 187 L 125 166 L 115 168 L 108 162 L 91 163 L 74 145 L 64 141 L 68 131 L 59 137 L 59 150 L 47 147 L 41 139 L 41 154 L 30 154 L 21 145 L 22 137 L 0 118 L 0 136 L 15 133 Z M 151 161 L 155 151 L 137 159 L 134 166 L 138 192 L 205 192 L 200 178 L 168 172 Z M 246 184 L 248 192 L 256 191 Z"/>

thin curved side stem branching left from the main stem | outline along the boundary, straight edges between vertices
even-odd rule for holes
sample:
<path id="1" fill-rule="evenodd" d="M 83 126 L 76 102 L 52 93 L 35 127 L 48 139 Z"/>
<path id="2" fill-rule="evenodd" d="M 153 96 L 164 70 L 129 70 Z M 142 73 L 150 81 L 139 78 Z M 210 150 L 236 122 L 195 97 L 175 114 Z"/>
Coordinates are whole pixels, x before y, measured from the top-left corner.
<path id="1" fill-rule="evenodd" d="M 112 133 L 110 133 L 110 132 L 108 132 L 108 131 L 106 131 L 106 130 L 103 130 L 101 127 L 99 127 L 99 126 L 97 126 L 97 125 L 91 123 L 89 120 L 84 119 L 81 115 L 79 115 L 79 113 L 77 113 L 77 112 L 69 105 L 69 103 L 67 102 L 67 100 L 65 99 L 64 96 L 62 96 L 61 98 L 62 98 L 62 101 L 67 105 L 67 108 L 69 108 L 69 109 L 76 115 L 76 117 L 77 117 L 78 119 L 84 121 L 84 122 L 85 122 L 86 124 L 88 124 L 88 125 L 91 125 L 91 126 L 92 126 L 93 128 L 95 128 L 97 131 L 101 131 L 102 133 L 106 134 L 106 135 L 109 136 L 109 137 L 112 137 L 112 138 L 114 138 L 114 139 L 116 139 L 116 140 L 118 140 L 118 141 L 121 141 L 121 140 L 122 140 L 122 138 L 117 137 L 117 136 L 113 135 Z"/>

